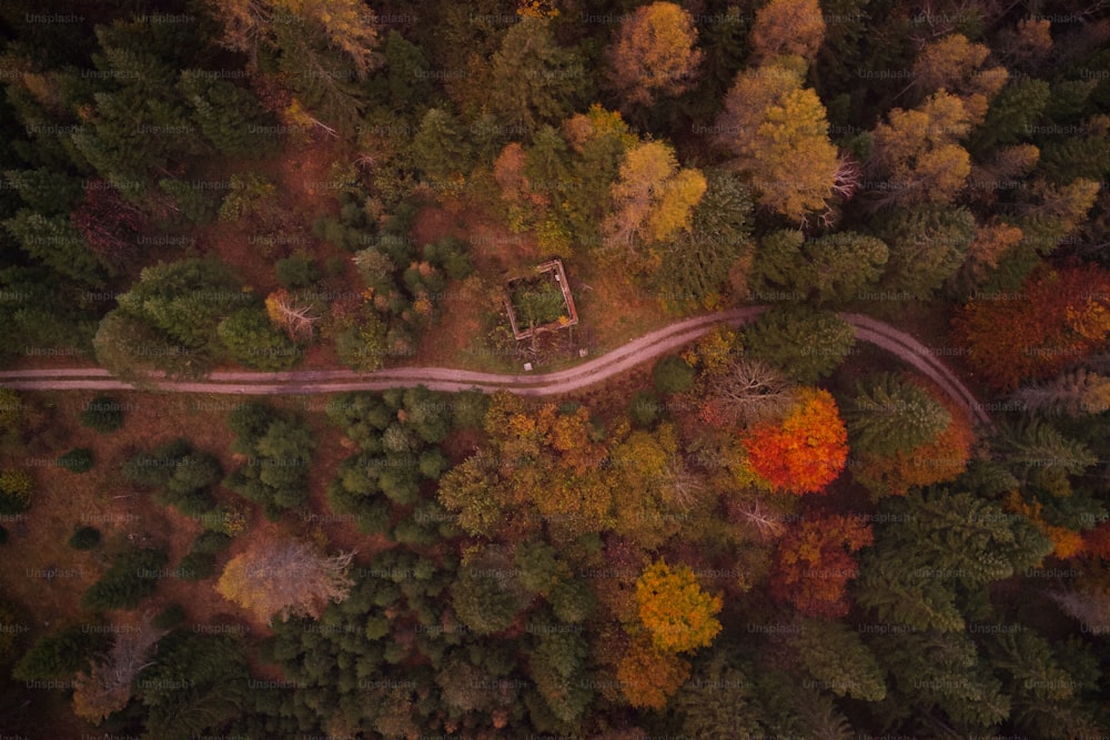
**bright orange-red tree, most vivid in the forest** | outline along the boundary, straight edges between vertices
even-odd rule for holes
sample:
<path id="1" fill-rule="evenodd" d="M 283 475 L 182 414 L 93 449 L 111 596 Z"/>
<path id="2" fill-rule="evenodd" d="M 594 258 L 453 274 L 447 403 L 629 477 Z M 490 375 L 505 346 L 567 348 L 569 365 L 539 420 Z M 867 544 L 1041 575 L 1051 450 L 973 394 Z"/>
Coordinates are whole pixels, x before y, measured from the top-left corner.
<path id="1" fill-rule="evenodd" d="M 760 424 L 743 437 L 753 469 L 773 487 L 816 494 L 848 460 L 848 430 L 833 396 L 804 388 L 780 424 Z"/>

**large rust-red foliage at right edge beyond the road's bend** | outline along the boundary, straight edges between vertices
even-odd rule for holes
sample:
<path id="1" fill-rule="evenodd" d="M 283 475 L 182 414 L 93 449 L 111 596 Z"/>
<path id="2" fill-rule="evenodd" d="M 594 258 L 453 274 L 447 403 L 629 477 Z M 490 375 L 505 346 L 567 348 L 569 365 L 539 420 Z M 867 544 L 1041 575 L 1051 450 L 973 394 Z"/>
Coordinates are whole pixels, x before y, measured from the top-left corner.
<path id="1" fill-rule="evenodd" d="M 1040 270 L 1011 301 L 971 301 L 953 322 L 976 373 L 999 391 L 1059 374 L 1110 334 L 1110 273 Z"/>

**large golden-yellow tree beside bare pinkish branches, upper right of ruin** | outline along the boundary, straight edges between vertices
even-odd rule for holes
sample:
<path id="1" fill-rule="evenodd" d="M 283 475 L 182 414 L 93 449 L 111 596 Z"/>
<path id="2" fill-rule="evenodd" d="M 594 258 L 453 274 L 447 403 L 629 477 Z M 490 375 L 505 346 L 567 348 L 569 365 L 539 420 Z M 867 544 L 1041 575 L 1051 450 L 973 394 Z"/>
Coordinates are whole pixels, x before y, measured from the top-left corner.
<path id="1" fill-rule="evenodd" d="M 786 58 L 736 77 L 717 122 L 731 165 L 751 174 L 759 204 L 796 222 L 827 209 L 840 168 L 825 107 Z M 800 65 L 804 68 L 804 64 Z"/>

